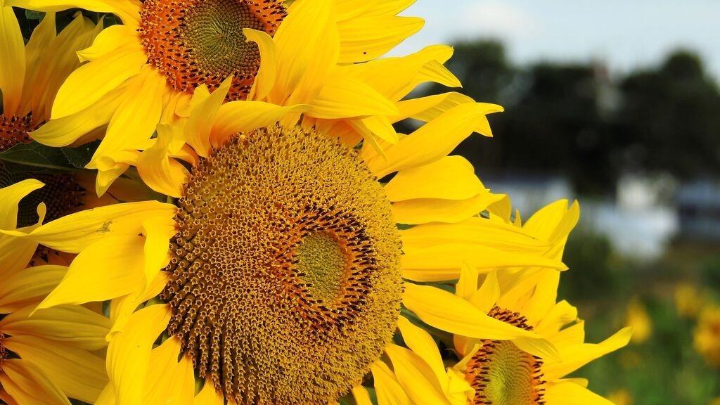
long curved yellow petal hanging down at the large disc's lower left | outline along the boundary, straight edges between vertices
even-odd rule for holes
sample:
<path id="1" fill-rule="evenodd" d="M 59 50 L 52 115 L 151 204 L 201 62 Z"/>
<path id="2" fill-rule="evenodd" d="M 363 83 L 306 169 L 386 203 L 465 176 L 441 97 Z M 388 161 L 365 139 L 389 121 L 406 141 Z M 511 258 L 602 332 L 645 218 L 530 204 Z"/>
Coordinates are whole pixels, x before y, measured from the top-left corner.
<path id="1" fill-rule="evenodd" d="M 135 312 L 107 349 L 107 374 L 118 405 L 143 404 L 153 342 L 168 327 L 170 308 L 153 305 Z"/>

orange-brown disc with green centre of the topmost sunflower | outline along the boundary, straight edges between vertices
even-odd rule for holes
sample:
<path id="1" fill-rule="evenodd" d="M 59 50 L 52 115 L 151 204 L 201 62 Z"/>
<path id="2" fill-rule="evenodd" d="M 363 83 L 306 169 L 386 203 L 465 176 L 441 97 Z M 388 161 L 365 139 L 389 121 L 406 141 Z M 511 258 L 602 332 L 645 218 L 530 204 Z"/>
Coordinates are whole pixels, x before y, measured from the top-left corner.
<path id="1" fill-rule="evenodd" d="M 192 94 L 233 76 L 228 99 L 243 99 L 260 64 L 243 29 L 273 35 L 286 15 L 281 0 L 148 0 L 139 32 L 148 61 L 173 89 Z"/>

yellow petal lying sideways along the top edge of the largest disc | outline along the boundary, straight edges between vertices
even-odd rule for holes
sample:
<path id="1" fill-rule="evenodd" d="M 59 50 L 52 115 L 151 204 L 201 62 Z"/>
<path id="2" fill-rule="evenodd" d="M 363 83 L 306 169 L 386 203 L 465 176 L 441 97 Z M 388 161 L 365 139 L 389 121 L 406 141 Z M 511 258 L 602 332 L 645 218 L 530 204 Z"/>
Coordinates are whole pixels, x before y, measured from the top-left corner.
<path id="1" fill-rule="evenodd" d="M 300 114 L 310 106 L 291 105 L 282 107 L 267 102 L 228 102 L 222 104 L 212 124 L 212 139 L 221 144 L 234 133 L 245 133 L 257 128 L 274 125 L 287 115 Z"/>

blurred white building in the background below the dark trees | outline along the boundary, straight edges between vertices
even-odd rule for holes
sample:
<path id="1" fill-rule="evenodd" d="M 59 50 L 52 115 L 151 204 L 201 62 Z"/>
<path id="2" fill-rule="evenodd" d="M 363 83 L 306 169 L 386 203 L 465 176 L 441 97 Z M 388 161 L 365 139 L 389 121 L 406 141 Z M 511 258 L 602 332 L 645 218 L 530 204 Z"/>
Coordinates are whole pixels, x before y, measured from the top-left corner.
<path id="1" fill-rule="evenodd" d="M 520 210 L 524 219 L 553 201 L 576 198 L 572 185 L 562 176 L 484 174 L 482 180 L 493 192 L 510 195 L 513 207 Z M 623 177 L 617 187 L 616 200 L 580 199 L 579 227 L 605 235 L 613 248 L 626 256 L 660 257 L 680 229 L 678 210 L 670 203 L 674 187 L 671 179 Z M 716 229 L 720 229 L 720 224 Z"/>

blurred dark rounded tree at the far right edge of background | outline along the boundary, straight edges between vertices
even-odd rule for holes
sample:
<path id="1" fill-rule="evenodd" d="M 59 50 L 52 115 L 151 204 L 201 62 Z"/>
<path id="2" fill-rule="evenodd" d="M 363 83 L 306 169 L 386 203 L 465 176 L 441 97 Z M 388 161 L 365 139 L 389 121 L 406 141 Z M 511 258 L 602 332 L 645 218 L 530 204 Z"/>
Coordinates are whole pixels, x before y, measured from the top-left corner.
<path id="1" fill-rule="evenodd" d="M 720 93 L 698 55 L 672 53 L 657 70 L 627 76 L 610 133 L 621 171 L 678 177 L 720 172 Z"/>

